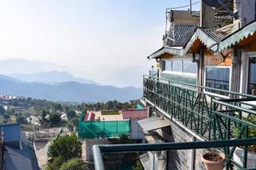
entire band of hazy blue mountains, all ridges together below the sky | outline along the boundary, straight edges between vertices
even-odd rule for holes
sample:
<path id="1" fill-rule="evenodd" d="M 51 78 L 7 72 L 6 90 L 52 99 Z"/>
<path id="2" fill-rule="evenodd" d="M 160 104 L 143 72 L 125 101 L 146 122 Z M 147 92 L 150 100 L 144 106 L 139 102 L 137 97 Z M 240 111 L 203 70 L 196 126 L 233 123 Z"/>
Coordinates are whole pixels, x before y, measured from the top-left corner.
<path id="1" fill-rule="evenodd" d="M 0 60 L 0 94 L 68 102 L 129 101 L 142 96 L 142 88 L 99 85 L 64 69 L 41 61 Z"/>

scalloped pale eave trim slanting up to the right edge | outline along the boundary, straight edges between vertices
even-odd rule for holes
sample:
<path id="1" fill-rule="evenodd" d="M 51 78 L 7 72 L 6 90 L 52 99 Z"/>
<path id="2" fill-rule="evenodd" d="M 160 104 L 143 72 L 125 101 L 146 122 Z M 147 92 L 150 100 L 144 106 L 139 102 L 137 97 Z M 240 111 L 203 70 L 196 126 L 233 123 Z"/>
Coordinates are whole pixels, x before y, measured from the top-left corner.
<path id="1" fill-rule="evenodd" d="M 231 46 L 240 45 L 240 43 L 246 42 L 249 38 L 254 37 L 255 33 L 256 20 L 233 32 L 230 36 L 225 37 L 223 41 L 214 44 L 211 49 L 214 53 L 220 53 L 225 48 L 230 48 Z"/>

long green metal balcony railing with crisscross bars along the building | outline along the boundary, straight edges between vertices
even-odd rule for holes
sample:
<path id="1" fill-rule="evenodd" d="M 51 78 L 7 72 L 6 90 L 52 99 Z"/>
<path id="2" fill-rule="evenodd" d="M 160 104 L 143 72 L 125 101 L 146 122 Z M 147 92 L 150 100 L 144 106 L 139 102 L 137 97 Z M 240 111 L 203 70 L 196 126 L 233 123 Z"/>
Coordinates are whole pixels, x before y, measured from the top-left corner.
<path id="1" fill-rule="evenodd" d="M 221 93 L 227 96 L 218 95 Z M 247 139 L 249 129 L 256 129 L 255 124 L 245 120 L 247 116 L 256 116 L 255 103 L 252 104 L 256 96 L 253 95 L 144 76 L 143 96 L 166 116 L 205 140 Z M 226 169 L 230 169 L 232 163 L 246 168 L 247 145 L 242 166 L 232 160 L 235 149 L 224 147 Z"/>

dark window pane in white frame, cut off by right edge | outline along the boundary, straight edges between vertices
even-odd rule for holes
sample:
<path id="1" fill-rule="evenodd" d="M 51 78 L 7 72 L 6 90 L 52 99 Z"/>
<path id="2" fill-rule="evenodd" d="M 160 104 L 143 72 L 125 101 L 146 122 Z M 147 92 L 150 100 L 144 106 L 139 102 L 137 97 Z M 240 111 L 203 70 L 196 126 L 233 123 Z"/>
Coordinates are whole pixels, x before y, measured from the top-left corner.
<path id="1" fill-rule="evenodd" d="M 256 58 L 249 59 L 249 75 L 247 94 L 256 95 Z"/>

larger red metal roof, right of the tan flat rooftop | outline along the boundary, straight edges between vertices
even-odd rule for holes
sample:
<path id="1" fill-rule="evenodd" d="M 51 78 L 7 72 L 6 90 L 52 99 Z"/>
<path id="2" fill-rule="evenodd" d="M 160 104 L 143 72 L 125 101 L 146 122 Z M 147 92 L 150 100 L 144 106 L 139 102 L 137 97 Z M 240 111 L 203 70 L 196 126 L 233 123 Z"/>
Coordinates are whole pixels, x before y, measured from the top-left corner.
<path id="1" fill-rule="evenodd" d="M 147 109 L 127 109 L 123 110 L 123 119 L 143 119 L 148 117 Z"/>

